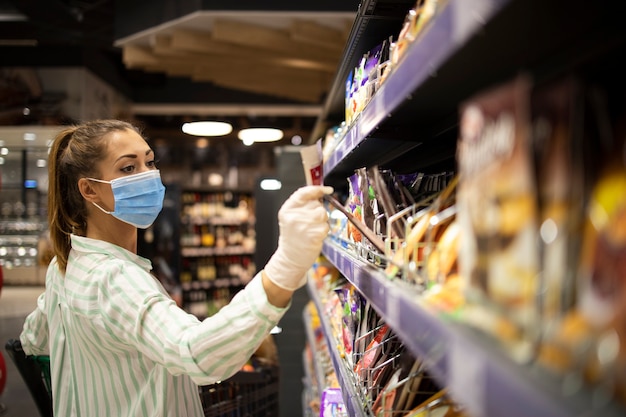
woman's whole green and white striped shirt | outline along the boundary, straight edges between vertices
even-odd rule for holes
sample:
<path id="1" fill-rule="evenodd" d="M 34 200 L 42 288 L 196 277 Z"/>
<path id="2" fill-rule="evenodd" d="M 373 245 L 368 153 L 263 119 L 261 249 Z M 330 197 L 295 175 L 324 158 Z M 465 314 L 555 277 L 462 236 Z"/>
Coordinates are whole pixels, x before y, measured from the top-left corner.
<path id="1" fill-rule="evenodd" d="M 147 259 L 71 241 L 65 276 L 53 260 L 20 335 L 27 354 L 50 355 L 57 416 L 203 416 L 197 385 L 239 370 L 286 311 L 267 301 L 257 274 L 201 322 L 176 306 Z"/>

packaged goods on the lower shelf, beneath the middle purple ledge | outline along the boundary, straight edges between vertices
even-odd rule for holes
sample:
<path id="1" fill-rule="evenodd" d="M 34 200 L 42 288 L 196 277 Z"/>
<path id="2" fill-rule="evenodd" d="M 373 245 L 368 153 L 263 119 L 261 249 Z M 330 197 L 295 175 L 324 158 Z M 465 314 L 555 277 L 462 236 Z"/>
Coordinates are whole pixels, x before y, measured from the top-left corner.
<path id="1" fill-rule="evenodd" d="M 323 271 L 328 272 L 327 268 L 324 265 Z M 411 410 L 423 411 L 429 399 L 434 402 L 444 396 L 427 371 L 428 358 L 415 358 L 352 284 L 334 274 L 334 285 L 326 287 L 315 283 L 323 279 L 320 275 L 313 273 L 310 288 L 315 288 L 314 299 L 326 317 L 330 332 L 325 336 L 349 372 L 354 395 L 369 413 L 404 416 Z M 437 393 L 439 397 L 434 397 Z M 454 403 L 446 398 L 445 404 Z M 454 405 L 454 409 L 459 406 Z"/>

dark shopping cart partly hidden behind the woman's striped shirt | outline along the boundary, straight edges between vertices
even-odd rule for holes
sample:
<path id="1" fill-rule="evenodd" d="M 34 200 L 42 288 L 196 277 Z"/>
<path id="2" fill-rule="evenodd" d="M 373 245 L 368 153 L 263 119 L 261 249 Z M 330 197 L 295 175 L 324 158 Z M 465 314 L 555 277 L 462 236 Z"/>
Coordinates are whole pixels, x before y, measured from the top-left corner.
<path id="1" fill-rule="evenodd" d="M 6 351 L 24 379 L 42 417 L 52 416 L 50 358 L 27 356 L 19 340 L 7 342 Z M 232 377 L 199 387 L 205 417 L 276 417 L 278 368 L 239 371 Z"/>

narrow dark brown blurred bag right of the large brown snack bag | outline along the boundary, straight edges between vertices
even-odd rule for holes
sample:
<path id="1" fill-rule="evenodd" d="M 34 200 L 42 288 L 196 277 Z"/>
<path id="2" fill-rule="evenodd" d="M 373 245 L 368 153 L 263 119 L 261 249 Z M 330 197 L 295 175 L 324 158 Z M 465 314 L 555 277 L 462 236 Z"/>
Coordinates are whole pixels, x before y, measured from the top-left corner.
<path id="1" fill-rule="evenodd" d="M 532 94 L 541 250 L 542 327 L 557 325 L 575 304 L 583 170 L 575 147 L 582 131 L 581 87 L 565 78 Z"/>

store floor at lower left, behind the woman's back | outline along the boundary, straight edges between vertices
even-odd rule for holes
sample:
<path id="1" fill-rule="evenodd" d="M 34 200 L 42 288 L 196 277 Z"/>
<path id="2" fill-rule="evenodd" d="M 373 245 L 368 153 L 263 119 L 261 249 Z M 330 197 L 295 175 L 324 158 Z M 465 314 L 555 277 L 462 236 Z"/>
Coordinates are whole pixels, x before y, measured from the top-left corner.
<path id="1" fill-rule="evenodd" d="M 43 287 L 37 286 L 4 286 L 0 293 L 0 342 L 7 366 L 6 385 L 0 393 L 0 404 L 6 410 L 4 413 L 0 411 L 1 417 L 39 416 L 33 397 L 13 362 L 7 357 L 4 345 L 9 339 L 19 337 L 24 319 L 35 308 L 37 297 L 42 292 Z"/>

